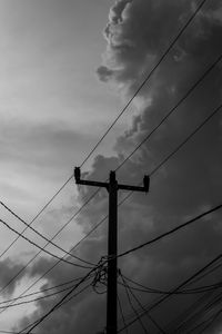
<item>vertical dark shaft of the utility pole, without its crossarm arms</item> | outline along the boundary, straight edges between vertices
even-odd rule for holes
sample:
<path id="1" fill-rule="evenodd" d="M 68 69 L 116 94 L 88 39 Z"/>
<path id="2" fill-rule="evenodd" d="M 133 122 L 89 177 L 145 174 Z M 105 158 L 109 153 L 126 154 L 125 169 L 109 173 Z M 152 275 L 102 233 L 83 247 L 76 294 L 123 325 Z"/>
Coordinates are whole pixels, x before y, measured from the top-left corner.
<path id="1" fill-rule="evenodd" d="M 117 334 L 118 320 L 118 183 L 115 175 L 110 175 L 109 184 L 109 237 L 108 256 L 108 297 L 107 297 L 107 334 Z"/>

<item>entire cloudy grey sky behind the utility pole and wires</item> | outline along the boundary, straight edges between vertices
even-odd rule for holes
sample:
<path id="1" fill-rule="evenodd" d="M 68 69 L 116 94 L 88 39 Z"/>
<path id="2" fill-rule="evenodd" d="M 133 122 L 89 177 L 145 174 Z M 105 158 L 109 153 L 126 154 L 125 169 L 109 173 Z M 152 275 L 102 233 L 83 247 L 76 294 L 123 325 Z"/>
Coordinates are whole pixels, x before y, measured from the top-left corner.
<path id="1" fill-rule="evenodd" d="M 199 3 L 194 0 L 0 0 L 0 200 L 3 204 L 26 222 L 32 222 L 72 175 L 73 167 L 84 161 Z M 138 185 L 145 174 L 151 175 L 149 194 L 134 193 L 119 207 L 119 253 L 221 204 L 221 109 L 155 170 L 220 106 L 220 61 L 144 141 L 221 56 L 221 1 L 206 0 L 82 166 L 82 177 L 92 180 L 104 181 L 110 170 L 120 165 L 119 183 Z M 140 149 L 133 153 L 142 141 Z M 132 157 L 123 164 L 131 153 Z M 72 250 L 108 214 L 108 194 L 102 189 L 75 215 L 93 191 L 91 187 L 77 187 L 71 179 L 34 218 L 32 226 L 51 238 L 74 216 L 53 242 L 72 255 L 97 264 L 107 255 L 107 220 Z M 127 195 L 120 190 L 119 200 Z M 2 220 L 22 232 L 24 225 L 2 205 L 0 213 Z M 181 232 L 123 256 L 119 259 L 123 277 L 159 291 L 175 287 L 220 254 L 221 216 L 221 210 L 216 210 Z M 27 229 L 24 236 L 40 247 L 46 244 L 33 230 Z M 44 297 L 48 292 L 42 289 L 89 272 L 60 263 L 41 278 L 56 259 L 41 253 L 29 263 L 39 249 L 22 237 L 3 253 L 16 237 L 14 232 L 1 226 L 0 302 L 24 291 L 41 292 Z M 46 249 L 59 257 L 64 254 L 52 245 Z M 73 261 L 71 255 L 67 259 Z M 18 276 L 4 288 L 14 275 Z M 221 267 L 191 287 L 215 284 L 220 277 Z M 128 323 L 133 312 L 121 279 L 120 275 L 119 299 Z M 85 291 L 56 310 L 33 332 L 103 333 L 104 286 L 84 286 Z M 219 293 L 220 289 L 204 296 L 210 301 Z M 157 299 L 154 294 L 138 291 L 134 294 L 145 307 Z M 61 296 L 9 307 L 0 313 L 0 331 L 18 333 L 43 316 Z M 178 332 L 180 317 L 184 318 L 182 312 L 200 296 L 203 293 L 172 296 L 150 312 L 154 322 L 143 316 L 142 323 L 129 326 L 128 333 L 145 333 L 144 327 L 149 333 L 160 333 L 154 323 L 164 333 L 191 333 L 196 323 L 220 312 L 220 303 L 210 311 L 205 308 Z M 133 305 L 140 310 L 135 299 Z M 204 333 L 222 333 L 220 315 Z M 124 326 L 121 318 L 118 326 Z M 192 333 L 200 333 L 199 330 Z"/>

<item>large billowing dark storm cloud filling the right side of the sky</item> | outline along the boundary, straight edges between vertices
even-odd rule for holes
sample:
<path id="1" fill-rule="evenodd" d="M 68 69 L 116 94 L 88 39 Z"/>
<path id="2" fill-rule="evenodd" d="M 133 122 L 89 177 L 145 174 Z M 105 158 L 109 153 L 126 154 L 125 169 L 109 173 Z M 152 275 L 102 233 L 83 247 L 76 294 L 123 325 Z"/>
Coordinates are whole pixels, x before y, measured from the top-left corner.
<path id="1" fill-rule="evenodd" d="M 159 59 L 176 31 L 191 16 L 194 6 L 191 1 L 117 1 L 110 11 L 105 28 L 108 49 L 104 63 L 98 72 L 101 80 L 121 84 L 129 95 L 143 78 L 144 72 Z M 103 180 L 110 169 L 114 169 L 123 158 L 161 120 L 163 115 L 186 92 L 205 69 L 222 52 L 222 20 L 215 16 L 219 2 L 212 1 L 203 8 L 195 21 L 180 38 L 175 48 L 160 66 L 149 86 L 140 92 L 142 108 L 134 118 L 130 130 L 117 140 L 117 157 L 98 156 L 92 170 L 83 177 Z M 221 102 L 221 65 L 219 65 L 160 128 L 151 140 L 143 145 L 118 171 L 118 179 L 138 184 L 168 154 L 170 154 L 203 119 Z M 220 115 L 212 119 L 176 156 L 151 177 L 148 196 L 134 194 L 119 209 L 119 250 L 125 250 L 145 242 L 203 210 L 220 203 L 222 189 L 222 136 Z M 80 199 L 92 189 L 80 190 Z M 125 195 L 125 194 L 124 194 Z M 122 198 L 120 194 L 120 199 Z M 94 226 L 107 215 L 105 191 L 101 191 L 82 213 L 79 223 L 84 230 Z M 83 200 L 83 199 L 82 199 Z M 221 213 L 196 222 L 192 227 L 169 237 L 158 245 L 141 249 L 120 261 L 119 266 L 127 276 L 155 288 L 171 288 L 185 279 L 221 252 Z M 79 248 L 78 254 L 98 262 L 105 254 L 107 224 L 101 226 Z M 40 271 L 37 266 L 34 271 Z M 49 283 L 58 284 L 61 272 L 49 277 Z M 70 275 L 63 267 L 62 275 Z M 74 271 L 73 275 L 78 275 Z M 218 279 L 215 274 L 211 279 Z M 123 292 L 120 297 L 123 298 Z M 143 303 L 153 297 L 140 296 Z M 164 327 L 178 308 L 185 307 L 190 299 L 173 299 L 154 313 Z M 125 301 L 127 304 L 127 301 Z M 125 305 L 123 304 L 123 305 Z M 103 305 L 103 306 L 101 306 Z M 180 305 L 180 307 L 178 307 Z M 182 305 L 182 306 L 181 306 Z M 50 303 L 39 305 L 43 314 Z M 52 315 L 46 325 L 39 326 L 42 333 L 92 333 L 104 325 L 104 298 L 89 293 L 70 303 L 64 310 Z M 93 308 L 93 312 L 92 312 Z M 74 310 L 74 317 L 71 315 Z M 125 308 L 130 312 L 130 308 Z M 58 318 L 57 318 L 58 314 Z M 83 320 L 87 317 L 88 323 Z M 37 315 L 33 316 L 33 318 Z M 29 320 L 30 321 L 30 320 Z M 59 330 L 59 323 L 61 327 Z M 157 328 L 151 327 L 151 333 Z M 132 333 L 140 333 L 138 326 Z M 209 332 L 210 333 L 210 332 Z"/>

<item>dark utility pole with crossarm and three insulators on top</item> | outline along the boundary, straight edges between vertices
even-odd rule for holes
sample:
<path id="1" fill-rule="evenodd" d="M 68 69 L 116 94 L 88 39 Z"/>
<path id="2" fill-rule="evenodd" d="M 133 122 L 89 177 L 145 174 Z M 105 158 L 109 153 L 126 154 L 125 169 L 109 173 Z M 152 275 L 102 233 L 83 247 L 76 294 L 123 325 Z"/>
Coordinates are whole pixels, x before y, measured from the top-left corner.
<path id="1" fill-rule="evenodd" d="M 119 185 L 115 179 L 115 171 L 110 171 L 109 183 L 83 180 L 81 170 L 74 168 L 74 178 L 78 185 L 107 188 L 109 193 L 109 235 L 108 235 L 108 292 L 107 292 L 107 334 L 118 333 L 118 190 L 148 193 L 150 177 L 143 178 L 143 187 Z"/>

